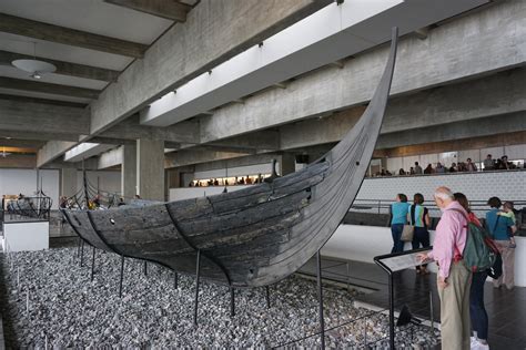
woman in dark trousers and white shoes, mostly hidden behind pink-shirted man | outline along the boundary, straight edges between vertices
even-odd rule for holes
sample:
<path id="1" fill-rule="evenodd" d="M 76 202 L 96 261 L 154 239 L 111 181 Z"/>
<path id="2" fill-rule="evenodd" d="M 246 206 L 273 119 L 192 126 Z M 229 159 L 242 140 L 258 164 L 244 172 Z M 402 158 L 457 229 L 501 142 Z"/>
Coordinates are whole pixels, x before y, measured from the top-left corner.
<path id="1" fill-rule="evenodd" d="M 455 200 L 466 209 L 469 223 L 482 227 L 478 218 L 469 210 L 467 197 L 462 193 L 453 194 Z M 489 349 L 487 344 L 487 312 L 484 306 L 484 284 L 486 282 L 487 270 L 473 272 L 472 287 L 469 289 L 469 318 L 472 320 L 472 349 Z"/>

